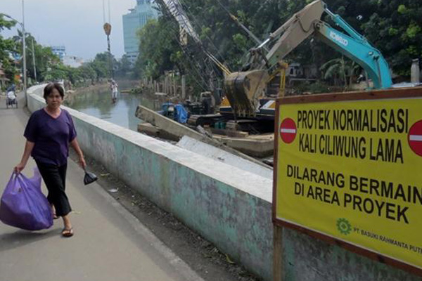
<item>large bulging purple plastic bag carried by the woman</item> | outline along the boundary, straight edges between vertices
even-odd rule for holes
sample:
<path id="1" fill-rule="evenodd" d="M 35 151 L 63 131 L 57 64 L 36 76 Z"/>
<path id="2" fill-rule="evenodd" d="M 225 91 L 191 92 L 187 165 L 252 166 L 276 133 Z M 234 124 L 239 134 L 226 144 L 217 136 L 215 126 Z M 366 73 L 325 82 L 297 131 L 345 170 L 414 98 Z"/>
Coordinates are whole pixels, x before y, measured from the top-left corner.
<path id="1" fill-rule="evenodd" d="M 41 176 L 37 168 L 32 178 L 13 173 L 1 195 L 0 221 L 25 230 L 41 230 L 53 226 L 53 214 L 41 192 Z"/>

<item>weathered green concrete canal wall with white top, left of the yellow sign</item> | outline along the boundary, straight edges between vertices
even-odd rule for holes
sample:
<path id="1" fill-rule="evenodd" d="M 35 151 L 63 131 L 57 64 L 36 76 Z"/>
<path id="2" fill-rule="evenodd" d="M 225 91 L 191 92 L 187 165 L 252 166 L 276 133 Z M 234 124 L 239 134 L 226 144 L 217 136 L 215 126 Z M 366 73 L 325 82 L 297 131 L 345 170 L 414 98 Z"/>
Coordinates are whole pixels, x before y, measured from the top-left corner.
<path id="1" fill-rule="evenodd" d="M 30 89 L 30 111 L 44 106 L 41 90 L 42 86 Z M 65 109 L 74 119 L 85 154 L 231 259 L 270 279 L 270 179 Z"/>

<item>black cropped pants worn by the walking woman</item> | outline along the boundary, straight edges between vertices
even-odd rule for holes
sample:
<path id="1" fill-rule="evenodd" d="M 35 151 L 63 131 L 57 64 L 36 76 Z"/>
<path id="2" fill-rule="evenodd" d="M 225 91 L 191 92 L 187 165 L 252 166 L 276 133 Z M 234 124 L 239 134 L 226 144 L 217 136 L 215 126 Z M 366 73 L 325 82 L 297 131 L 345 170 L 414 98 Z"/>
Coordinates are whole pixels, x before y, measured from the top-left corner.
<path id="1" fill-rule="evenodd" d="M 47 200 L 56 208 L 57 216 L 66 216 L 72 211 L 70 207 L 68 195 L 65 193 L 66 169 L 68 164 L 56 166 L 52 164 L 44 164 L 36 161 L 39 174 L 41 174 L 46 184 L 49 195 Z"/>

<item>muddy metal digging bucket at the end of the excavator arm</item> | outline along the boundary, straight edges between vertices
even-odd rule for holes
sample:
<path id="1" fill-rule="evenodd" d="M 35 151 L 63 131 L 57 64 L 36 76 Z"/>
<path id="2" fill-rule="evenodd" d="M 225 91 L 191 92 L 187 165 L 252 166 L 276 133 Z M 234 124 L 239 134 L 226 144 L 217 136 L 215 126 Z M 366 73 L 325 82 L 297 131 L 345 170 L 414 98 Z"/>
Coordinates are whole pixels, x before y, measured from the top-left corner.
<path id="1" fill-rule="evenodd" d="M 233 72 L 224 79 L 224 93 L 239 117 L 253 117 L 260 107 L 259 98 L 267 86 L 266 70 Z"/>

